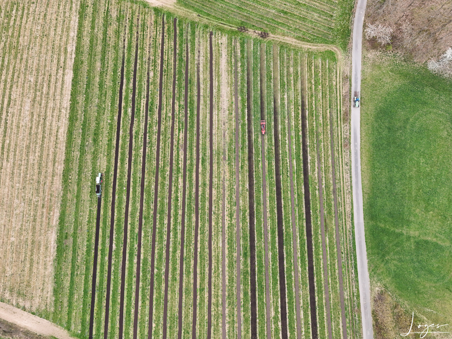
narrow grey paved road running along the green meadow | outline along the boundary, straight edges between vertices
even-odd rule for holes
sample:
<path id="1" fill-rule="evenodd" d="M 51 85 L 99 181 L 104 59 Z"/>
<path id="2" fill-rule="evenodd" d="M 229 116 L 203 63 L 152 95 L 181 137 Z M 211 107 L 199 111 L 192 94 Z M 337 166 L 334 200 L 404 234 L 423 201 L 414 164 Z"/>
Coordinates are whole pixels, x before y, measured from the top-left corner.
<path id="1" fill-rule="evenodd" d="M 361 187 L 360 157 L 360 108 L 353 107 L 353 96 L 361 90 L 361 42 L 363 40 L 363 20 L 367 0 L 358 0 L 353 22 L 352 51 L 352 183 L 353 212 L 355 223 L 356 256 L 358 261 L 359 296 L 361 301 L 361 320 L 363 339 L 373 339 L 372 314 L 370 309 L 370 280 L 367 270 L 366 240 L 364 238 L 363 189 Z"/>

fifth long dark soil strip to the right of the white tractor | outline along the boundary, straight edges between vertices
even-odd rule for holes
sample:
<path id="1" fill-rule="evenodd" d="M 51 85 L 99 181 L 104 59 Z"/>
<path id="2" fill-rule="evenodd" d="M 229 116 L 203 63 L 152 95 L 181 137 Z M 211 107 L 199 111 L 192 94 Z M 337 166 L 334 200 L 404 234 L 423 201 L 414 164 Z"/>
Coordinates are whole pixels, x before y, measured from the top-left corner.
<path id="1" fill-rule="evenodd" d="M 174 155 L 174 104 L 176 100 L 176 58 L 177 58 L 177 19 L 173 20 L 173 101 L 171 102 L 171 148 L 170 148 L 170 177 L 168 179 L 168 215 L 166 223 L 166 256 L 165 256 L 165 294 L 163 297 L 163 339 L 166 339 L 168 319 L 168 278 L 170 276 L 170 235 L 171 235 L 171 197 L 173 193 L 173 155 Z"/>

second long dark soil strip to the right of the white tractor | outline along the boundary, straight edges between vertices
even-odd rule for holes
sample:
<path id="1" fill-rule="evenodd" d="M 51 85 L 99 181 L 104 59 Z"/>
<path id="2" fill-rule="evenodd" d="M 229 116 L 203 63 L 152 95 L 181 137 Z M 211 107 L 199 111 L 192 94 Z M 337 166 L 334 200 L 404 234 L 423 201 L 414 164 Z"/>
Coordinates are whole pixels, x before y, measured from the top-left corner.
<path id="1" fill-rule="evenodd" d="M 126 186 L 126 209 L 124 214 L 124 236 L 122 238 L 122 265 L 121 265 L 121 292 L 119 299 L 119 339 L 122 339 L 122 328 L 124 326 L 124 289 L 126 280 L 126 258 L 127 258 L 127 229 L 129 225 L 129 203 L 130 203 L 130 177 L 132 174 L 132 151 L 133 151 L 133 124 L 135 122 L 135 95 L 137 93 L 137 62 L 138 62 L 138 34 L 140 28 L 140 7 L 137 15 L 137 33 L 135 38 L 135 60 L 133 64 L 132 80 L 132 112 L 129 128 L 129 155 L 127 158 L 127 186 Z"/>

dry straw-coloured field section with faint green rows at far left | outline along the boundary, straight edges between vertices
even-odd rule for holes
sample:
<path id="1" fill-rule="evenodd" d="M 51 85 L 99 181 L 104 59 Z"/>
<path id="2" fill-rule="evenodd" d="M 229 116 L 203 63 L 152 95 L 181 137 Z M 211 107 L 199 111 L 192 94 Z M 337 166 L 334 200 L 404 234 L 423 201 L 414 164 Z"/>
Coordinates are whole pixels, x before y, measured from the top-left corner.
<path id="1" fill-rule="evenodd" d="M 78 5 L 0 3 L 0 296 L 51 309 Z"/>

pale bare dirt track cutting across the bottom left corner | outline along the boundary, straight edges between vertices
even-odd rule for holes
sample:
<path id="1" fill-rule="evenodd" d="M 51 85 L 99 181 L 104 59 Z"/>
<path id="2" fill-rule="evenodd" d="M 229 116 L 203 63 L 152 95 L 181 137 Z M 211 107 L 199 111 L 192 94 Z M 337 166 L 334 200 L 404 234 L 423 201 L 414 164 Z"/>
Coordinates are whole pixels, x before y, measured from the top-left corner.
<path id="1" fill-rule="evenodd" d="M 54 336 L 58 339 L 73 339 L 62 327 L 1 301 L 0 318 L 38 334 Z"/>

